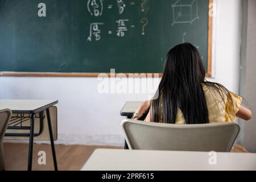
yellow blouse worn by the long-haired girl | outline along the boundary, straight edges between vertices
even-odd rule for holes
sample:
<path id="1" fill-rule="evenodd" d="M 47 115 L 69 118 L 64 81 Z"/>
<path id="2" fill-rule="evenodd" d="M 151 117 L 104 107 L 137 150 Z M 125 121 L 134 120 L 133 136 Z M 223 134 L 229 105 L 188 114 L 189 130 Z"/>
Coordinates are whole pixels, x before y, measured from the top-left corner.
<path id="1" fill-rule="evenodd" d="M 225 94 L 224 102 L 220 94 L 218 94 L 214 88 L 203 84 L 203 90 L 207 101 L 209 123 L 230 122 L 236 120 L 236 114 L 241 107 L 242 97 L 230 92 L 233 103 L 226 98 Z M 183 113 L 179 108 L 177 110 L 175 123 L 185 123 Z"/>

